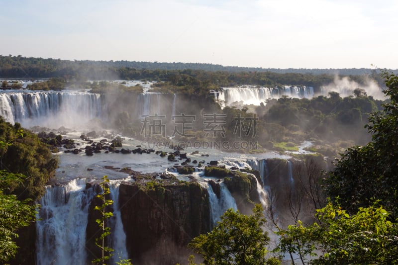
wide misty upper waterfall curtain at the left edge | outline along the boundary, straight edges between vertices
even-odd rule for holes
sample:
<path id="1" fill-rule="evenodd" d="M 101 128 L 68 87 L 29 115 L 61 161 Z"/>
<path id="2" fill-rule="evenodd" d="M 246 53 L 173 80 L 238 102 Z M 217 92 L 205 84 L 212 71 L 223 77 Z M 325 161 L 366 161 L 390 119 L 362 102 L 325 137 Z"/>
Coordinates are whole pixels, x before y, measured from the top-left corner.
<path id="1" fill-rule="evenodd" d="M 103 118 L 100 94 L 81 91 L 1 92 L 0 115 L 23 126 L 75 127 Z"/>

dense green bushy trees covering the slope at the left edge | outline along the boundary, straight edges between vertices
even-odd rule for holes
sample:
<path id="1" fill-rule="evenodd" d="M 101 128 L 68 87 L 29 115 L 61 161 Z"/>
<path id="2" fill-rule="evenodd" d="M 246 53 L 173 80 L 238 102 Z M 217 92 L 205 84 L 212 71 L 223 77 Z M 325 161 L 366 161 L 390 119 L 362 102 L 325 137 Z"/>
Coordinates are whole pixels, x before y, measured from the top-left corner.
<path id="1" fill-rule="evenodd" d="M 23 150 L 23 152 L 14 153 L 15 150 Z M 49 169 L 48 165 L 43 165 L 53 161 L 50 156 L 47 156 L 48 154 L 49 150 L 38 141 L 36 136 L 32 136 L 29 131 L 24 132 L 18 123 L 12 126 L 0 117 L 0 261 L 2 262 L 15 257 L 18 249 L 15 242 L 18 238 L 18 229 L 35 221 L 36 206 L 32 198 L 37 197 L 33 195 L 33 192 L 43 190 L 44 183 L 41 186 L 32 184 L 44 180 L 41 177 L 48 179 L 46 171 Z M 13 164 L 9 164 L 11 160 Z M 56 166 L 56 163 L 53 166 Z M 27 171 L 20 170 L 21 168 L 26 168 Z M 39 169 L 42 175 L 37 175 Z M 30 172 L 32 174 L 28 177 L 22 174 Z M 25 191 L 28 194 L 23 194 Z M 18 197 L 12 193 L 18 194 Z"/>

